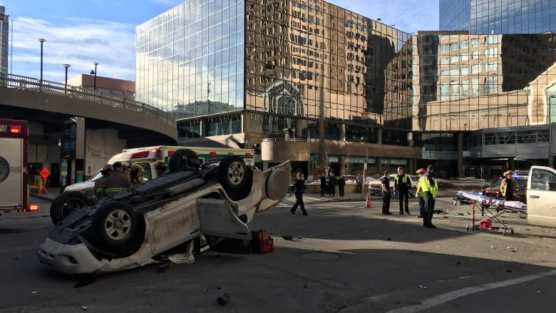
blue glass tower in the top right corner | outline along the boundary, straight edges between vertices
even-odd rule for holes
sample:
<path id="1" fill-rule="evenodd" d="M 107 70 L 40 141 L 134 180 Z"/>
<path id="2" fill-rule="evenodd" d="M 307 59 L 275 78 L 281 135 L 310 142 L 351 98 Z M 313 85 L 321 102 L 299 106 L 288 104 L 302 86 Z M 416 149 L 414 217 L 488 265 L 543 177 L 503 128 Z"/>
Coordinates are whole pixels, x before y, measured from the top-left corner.
<path id="1" fill-rule="evenodd" d="M 556 31 L 556 1 L 440 0 L 440 29 L 470 34 Z"/>

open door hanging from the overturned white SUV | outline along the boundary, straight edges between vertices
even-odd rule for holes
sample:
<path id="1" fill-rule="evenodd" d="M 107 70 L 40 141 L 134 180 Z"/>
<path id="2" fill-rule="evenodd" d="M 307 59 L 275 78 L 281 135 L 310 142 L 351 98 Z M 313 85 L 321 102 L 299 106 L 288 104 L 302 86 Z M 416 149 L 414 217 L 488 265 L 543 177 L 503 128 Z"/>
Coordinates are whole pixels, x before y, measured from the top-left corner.
<path id="1" fill-rule="evenodd" d="M 215 252 L 249 253 L 249 227 L 235 215 L 230 202 L 222 199 L 197 199 L 201 233 Z"/>

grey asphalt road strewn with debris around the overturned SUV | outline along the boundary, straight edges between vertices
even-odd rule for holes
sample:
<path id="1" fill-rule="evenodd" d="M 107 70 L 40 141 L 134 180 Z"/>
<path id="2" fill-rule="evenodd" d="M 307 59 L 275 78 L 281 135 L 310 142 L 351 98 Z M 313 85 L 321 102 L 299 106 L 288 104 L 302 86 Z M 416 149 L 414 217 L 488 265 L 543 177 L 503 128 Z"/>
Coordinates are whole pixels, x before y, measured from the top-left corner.
<path id="1" fill-rule="evenodd" d="M 379 214 L 364 202 L 292 199 L 259 213 L 274 252 L 205 252 L 189 265 L 160 265 L 80 279 L 39 264 L 52 229 L 48 202 L 34 217 L 0 217 L 0 312 L 552 312 L 556 232 L 504 215 L 515 235 L 466 231 L 470 206 L 437 209 L 438 229 L 415 215 Z M 395 205 L 393 205 L 395 209 Z M 412 200 L 411 210 L 416 212 Z M 393 212 L 396 212 L 393 210 Z M 27 214 L 27 213 L 22 213 Z M 289 236 L 289 237 L 288 237 Z M 286 237 L 288 240 L 285 240 Z M 291 240 L 290 240 L 290 237 Z M 83 286 L 80 287 L 80 284 Z M 230 301 L 217 298 L 225 292 Z"/>

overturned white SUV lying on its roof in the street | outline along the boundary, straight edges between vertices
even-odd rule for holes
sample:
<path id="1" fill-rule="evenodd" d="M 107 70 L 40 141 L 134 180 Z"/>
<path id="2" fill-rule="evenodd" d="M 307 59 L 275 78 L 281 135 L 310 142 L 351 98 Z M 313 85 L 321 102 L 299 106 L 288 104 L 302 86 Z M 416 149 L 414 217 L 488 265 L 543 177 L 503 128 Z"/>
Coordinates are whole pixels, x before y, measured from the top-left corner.
<path id="1" fill-rule="evenodd" d="M 59 223 L 39 260 L 66 274 L 100 274 L 148 265 L 165 255 L 200 251 L 249 253 L 247 223 L 287 194 L 289 161 L 262 172 L 231 155 L 202 165 L 177 150 L 170 173 L 125 190 Z"/>

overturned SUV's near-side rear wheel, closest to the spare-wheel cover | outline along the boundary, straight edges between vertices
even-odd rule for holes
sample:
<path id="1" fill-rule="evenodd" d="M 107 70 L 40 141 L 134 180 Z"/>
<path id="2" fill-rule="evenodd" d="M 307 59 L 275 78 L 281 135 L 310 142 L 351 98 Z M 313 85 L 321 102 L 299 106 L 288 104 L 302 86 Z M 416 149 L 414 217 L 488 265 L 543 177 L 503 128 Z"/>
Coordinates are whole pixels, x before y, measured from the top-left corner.
<path id="1" fill-rule="evenodd" d="M 230 199 L 241 200 L 251 193 L 253 170 L 241 157 L 230 155 L 218 165 L 218 183 Z"/>

